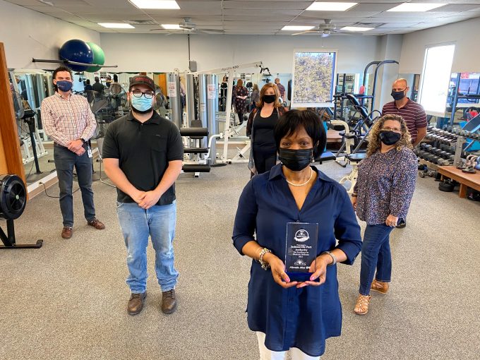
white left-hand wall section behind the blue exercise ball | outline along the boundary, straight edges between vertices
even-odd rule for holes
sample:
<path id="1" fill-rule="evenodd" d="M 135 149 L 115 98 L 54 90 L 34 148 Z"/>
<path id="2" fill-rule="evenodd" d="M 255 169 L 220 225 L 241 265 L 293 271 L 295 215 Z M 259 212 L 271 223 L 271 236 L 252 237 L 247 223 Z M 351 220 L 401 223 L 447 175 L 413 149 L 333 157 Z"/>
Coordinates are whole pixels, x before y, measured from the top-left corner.
<path id="1" fill-rule="evenodd" d="M 59 47 L 71 39 L 102 46 L 96 31 L 0 0 L 0 42 L 8 68 L 56 68 L 59 64 L 32 63 L 32 58 L 59 59 Z"/>

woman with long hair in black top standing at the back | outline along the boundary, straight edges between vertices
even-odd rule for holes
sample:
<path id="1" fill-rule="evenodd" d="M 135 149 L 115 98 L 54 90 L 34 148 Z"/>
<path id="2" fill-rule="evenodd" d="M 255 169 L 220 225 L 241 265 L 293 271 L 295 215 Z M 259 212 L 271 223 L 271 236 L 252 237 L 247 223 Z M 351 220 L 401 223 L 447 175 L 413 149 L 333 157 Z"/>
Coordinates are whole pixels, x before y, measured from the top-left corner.
<path id="1" fill-rule="evenodd" d="M 250 161 L 250 163 L 253 163 L 253 167 L 249 167 L 252 175 L 269 172 L 277 162 L 273 128 L 275 128 L 278 118 L 285 112 L 279 97 L 277 85 L 273 83 L 263 85 L 260 90 L 260 102 L 248 118 L 246 131 L 247 135 L 251 136 L 253 162 Z"/>

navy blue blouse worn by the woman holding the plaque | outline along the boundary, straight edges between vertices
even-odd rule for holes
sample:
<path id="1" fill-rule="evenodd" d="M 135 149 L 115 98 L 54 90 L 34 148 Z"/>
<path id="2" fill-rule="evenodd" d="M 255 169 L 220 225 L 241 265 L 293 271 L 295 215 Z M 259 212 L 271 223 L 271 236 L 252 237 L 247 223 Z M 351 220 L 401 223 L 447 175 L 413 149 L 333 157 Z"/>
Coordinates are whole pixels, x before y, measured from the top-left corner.
<path id="1" fill-rule="evenodd" d="M 241 249 L 255 240 L 284 261 L 287 222 L 318 223 L 318 255 L 340 248 L 344 263 L 352 265 L 361 250 L 360 227 L 352 203 L 342 185 L 319 172 L 318 179 L 299 210 L 282 172 L 282 164 L 253 176 L 245 186 L 236 210 L 234 246 Z M 338 245 L 337 240 L 338 239 Z M 342 308 L 338 295 L 337 268 L 327 268 L 320 287 L 276 284 L 272 272 L 252 260 L 248 284 L 248 328 L 265 332 L 265 346 L 275 352 L 297 347 L 310 356 L 325 352 L 325 339 L 339 336 Z"/>

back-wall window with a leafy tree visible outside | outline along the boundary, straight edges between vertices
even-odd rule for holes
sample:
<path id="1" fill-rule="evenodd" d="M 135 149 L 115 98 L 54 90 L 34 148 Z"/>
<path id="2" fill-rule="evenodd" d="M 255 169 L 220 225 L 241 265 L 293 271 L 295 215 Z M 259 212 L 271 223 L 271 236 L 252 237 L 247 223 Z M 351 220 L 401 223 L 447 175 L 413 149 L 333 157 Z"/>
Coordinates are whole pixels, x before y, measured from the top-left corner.
<path id="1" fill-rule="evenodd" d="M 336 64 L 336 50 L 294 50 L 292 107 L 333 106 Z"/>

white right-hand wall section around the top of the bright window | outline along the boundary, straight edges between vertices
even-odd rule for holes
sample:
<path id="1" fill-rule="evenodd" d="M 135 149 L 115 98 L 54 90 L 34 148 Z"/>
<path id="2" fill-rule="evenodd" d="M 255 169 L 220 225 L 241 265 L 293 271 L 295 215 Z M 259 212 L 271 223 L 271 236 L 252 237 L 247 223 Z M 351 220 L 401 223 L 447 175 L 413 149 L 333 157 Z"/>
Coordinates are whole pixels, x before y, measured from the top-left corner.
<path id="1" fill-rule="evenodd" d="M 421 73 L 425 48 L 443 42 L 455 42 L 452 72 L 480 71 L 480 18 L 439 26 L 404 35 L 401 73 Z"/>

